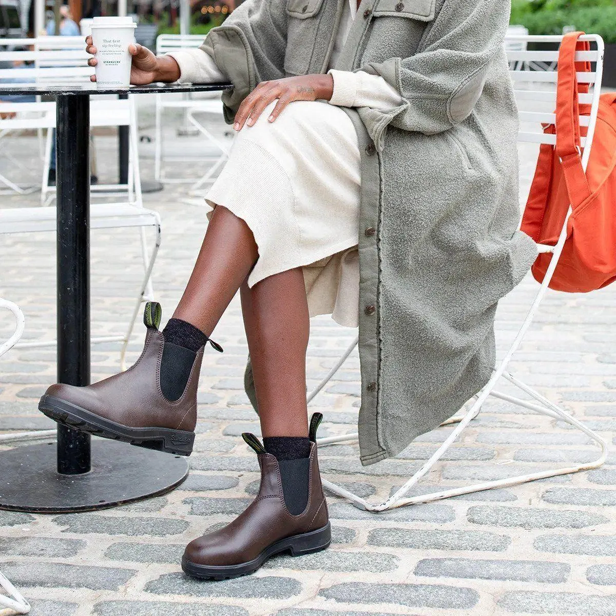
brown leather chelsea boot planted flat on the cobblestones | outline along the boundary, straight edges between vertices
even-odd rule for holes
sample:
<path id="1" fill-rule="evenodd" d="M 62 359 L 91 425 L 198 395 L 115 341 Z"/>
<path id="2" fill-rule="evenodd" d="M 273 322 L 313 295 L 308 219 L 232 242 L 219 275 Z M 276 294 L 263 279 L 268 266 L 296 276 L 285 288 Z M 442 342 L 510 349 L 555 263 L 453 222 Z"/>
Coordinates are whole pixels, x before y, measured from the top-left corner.
<path id="1" fill-rule="evenodd" d="M 191 541 L 182 557 L 182 569 L 202 579 L 223 580 L 253 573 L 274 554 L 310 554 L 327 548 L 331 529 L 327 503 L 318 471 L 318 424 L 323 415 L 310 421 L 308 503 L 297 516 L 285 504 L 278 460 L 265 452 L 253 434 L 242 434 L 254 449 L 261 467 L 261 487 L 248 509 L 231 524 Z"/>

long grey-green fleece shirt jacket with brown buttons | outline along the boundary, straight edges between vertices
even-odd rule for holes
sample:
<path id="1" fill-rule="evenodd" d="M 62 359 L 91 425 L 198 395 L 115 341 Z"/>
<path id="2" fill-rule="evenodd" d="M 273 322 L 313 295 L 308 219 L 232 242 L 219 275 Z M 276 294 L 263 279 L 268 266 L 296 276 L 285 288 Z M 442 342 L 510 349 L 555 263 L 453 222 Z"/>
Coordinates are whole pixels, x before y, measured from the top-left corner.
<path id="1" fill-rule="evenodd" d="M 227 120 L 261 81 L 325 72 L 346 1 L 247 0 L 212 30 L 203 49 L 234 86 Z M 403 99 L 347 110 L 362 152 L 363 464 L 397 455 L 487 383 L 496 306 L 537 254 L 518 230 L 509 10 L 362 0 L 335 67 L 381 75 Z M 254 402 L 250 367 L 246 386 Z"/>

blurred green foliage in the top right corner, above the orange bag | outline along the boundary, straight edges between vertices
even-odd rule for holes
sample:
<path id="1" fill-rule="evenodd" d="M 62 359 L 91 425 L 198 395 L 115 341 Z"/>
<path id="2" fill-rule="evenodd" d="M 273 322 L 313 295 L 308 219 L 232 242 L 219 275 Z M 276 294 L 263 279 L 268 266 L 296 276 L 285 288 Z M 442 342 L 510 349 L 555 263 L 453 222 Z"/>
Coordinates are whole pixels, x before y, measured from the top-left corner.
<path id="1" fill-rule="evenodd" d="M 511 23 L 531 34 L 562 34 L 574 26 L 616 43 L 616 0 L 513 0 Z"/>

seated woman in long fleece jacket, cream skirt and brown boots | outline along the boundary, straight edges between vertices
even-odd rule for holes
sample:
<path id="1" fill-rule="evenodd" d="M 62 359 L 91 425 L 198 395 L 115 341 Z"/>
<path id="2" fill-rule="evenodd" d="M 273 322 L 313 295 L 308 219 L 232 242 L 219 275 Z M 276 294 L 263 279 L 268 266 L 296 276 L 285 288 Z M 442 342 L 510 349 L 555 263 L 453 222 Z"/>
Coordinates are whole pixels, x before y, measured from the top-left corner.
<path id="1" fill-rule="evenodd" d="M 131 46 L 132 83 L 227 82 L 237 131 L 197 264 L 144 352 L 39 408 L 99 436 L 189 455 L 209 336 L 240 291 L 263 444 L 257 498 L 190 543 L 190 575 L 256 570 L 330 543 L 306 408 L 309 318 L 358 326 L 361 460 L 452 416 L 494 366 L 496 304 L 536 250 L 518 231 L 517 113 L 503 0 L 248 0 L 200 49 Z M 87 49 L 96 49 L 87 39 Z M 214 346 L 215 343 L 213 343 Z"/>

